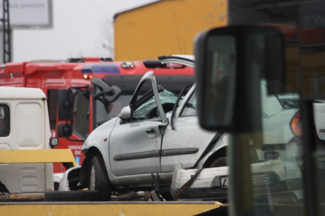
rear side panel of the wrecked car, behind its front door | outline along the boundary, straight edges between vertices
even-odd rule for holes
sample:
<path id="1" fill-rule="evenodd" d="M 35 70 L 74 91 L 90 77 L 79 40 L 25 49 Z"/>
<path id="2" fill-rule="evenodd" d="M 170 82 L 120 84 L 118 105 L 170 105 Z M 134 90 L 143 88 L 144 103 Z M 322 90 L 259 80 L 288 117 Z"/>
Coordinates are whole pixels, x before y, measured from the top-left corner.
<path id="1" fill-rule="evenodd" d="M 178 163 L 191 168 L 203 154 L 215 132 L 208 132 L 199 125 L 195 85 L 179 105 L 173 121 L 168 125 L 161 147 L 161 169 L 172 172 Z"/>

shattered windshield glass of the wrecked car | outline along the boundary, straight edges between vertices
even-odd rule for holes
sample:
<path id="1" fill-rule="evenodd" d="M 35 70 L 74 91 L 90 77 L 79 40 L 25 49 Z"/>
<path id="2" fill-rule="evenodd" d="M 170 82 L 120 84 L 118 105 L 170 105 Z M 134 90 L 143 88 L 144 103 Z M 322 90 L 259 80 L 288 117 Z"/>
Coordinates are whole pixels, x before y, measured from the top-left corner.
<path id="1" fill-rule="evenodd" d="M 177 95 L 175 95 L 174 93 L 169 92 L 167 90 L 159 92 L 158 95 L 159 95 L 159 100 L 163 106 L 164 106 L 164 104 L 167 104 L 167 103 L 175 104 L 175 102 L 177 100 Z M 180 102 L 181 102 L 181 100 L 180 100 Z M 133 117 L 146 116 L 146 117 L 150 118 L 150 115 L 148 115 L 148 113 L 150 113 L 150 111 L 154 111 L 156 108 L 157 108 L 157 103 L 156 103 L 154 96 L 152 96 L 149 100 L 147 100 L 146 102 L 141 104 L 134 111 Z"/>

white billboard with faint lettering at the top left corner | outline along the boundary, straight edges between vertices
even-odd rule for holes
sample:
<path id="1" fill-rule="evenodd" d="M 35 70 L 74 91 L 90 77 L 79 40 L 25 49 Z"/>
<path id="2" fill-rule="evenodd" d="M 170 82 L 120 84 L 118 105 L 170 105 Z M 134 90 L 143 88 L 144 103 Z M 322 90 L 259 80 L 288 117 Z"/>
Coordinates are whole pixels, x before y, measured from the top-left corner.
<path id="1" fill-rule="evenodd" d="M 3 2 L 0 0 L 0 19 L 3 19 Z M 52 0 L 9 0 L 9 21 L 12 29 L 51 28 Z"/>

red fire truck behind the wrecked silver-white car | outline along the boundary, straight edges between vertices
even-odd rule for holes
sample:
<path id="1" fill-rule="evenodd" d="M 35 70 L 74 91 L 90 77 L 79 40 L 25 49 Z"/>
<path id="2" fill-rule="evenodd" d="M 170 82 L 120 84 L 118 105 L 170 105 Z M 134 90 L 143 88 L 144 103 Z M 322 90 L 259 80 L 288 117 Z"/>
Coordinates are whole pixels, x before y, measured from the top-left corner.
<path id="1" fill-rule="evenodd" d="M 48 98 L 51 137 L 57 137 L 57 126 L 66 122 L 63 121 L 66 117 L 57 114 L 58 92 L 60 89 L 73 89 L 72 136 L 59 136 L 59 145 L 55 148 L 71 149 L 80 165 L 84 139 L 96 126 L 119 114 L 131 99 L 141 76 L 150 70 L 157 77 L 157 83 L 171 91 L 180 88 L 173 87 L 175 83 L 185 85 L 194 81 L 192 68 L 161 64 L 158 60 L 113 62 L 111 59 L 81 58 L 7 63 L 0 67 L 0 85 L 34 87 L 44 91 Z M 111 88 L 113 85 L 115 87 Z M 107 100 L 107 97 L 113 97 L 114 90 L 121 90 L 119 98 Z M 110 103 L 112 101 L 114 103 Z M 63 173 L 65 170 L 63 164 L 54 164 L 54 172 Z"/>

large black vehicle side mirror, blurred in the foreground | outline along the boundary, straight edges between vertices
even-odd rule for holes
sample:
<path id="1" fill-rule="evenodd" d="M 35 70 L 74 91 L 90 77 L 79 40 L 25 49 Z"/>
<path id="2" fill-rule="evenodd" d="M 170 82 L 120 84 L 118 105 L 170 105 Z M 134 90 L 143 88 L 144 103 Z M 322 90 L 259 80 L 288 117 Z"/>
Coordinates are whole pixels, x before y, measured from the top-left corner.
<path id="1" fill-rule="evenodd" d="M 257 102 L 247 100 L 259 92 L 262 77 L 283 81 L 283 41 L 281 31 L 268 26 L 228 26 L 196 37 L 198 110 L 203 128 L 228 132 L 256 128 L 249 119 L 253 115 L 246 117 L 245 112 Z"/>

